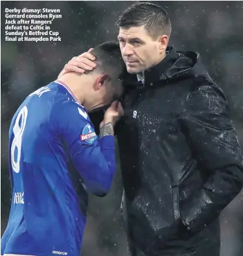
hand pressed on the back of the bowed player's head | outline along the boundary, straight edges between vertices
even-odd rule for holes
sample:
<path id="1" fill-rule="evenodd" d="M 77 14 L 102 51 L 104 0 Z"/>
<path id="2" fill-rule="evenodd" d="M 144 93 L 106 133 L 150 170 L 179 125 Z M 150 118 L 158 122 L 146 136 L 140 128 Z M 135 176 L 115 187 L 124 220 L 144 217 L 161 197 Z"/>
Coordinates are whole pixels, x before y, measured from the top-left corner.
<path id="1" fill-rule="evenodd" d="M 79 56 L 73 57 L 65 66 L 62 72 L 59 74 L 58 78 L 65 75 L 68 72 L 76 72 L 76 73 L 85 73 L 85 71 L 91 71 L 96 64 L 93 62 L 95 60 L 95 56 L 93 56 L 90 52 L 93 48 L 89 49 L 89 51 L 82 53 Z"/>

